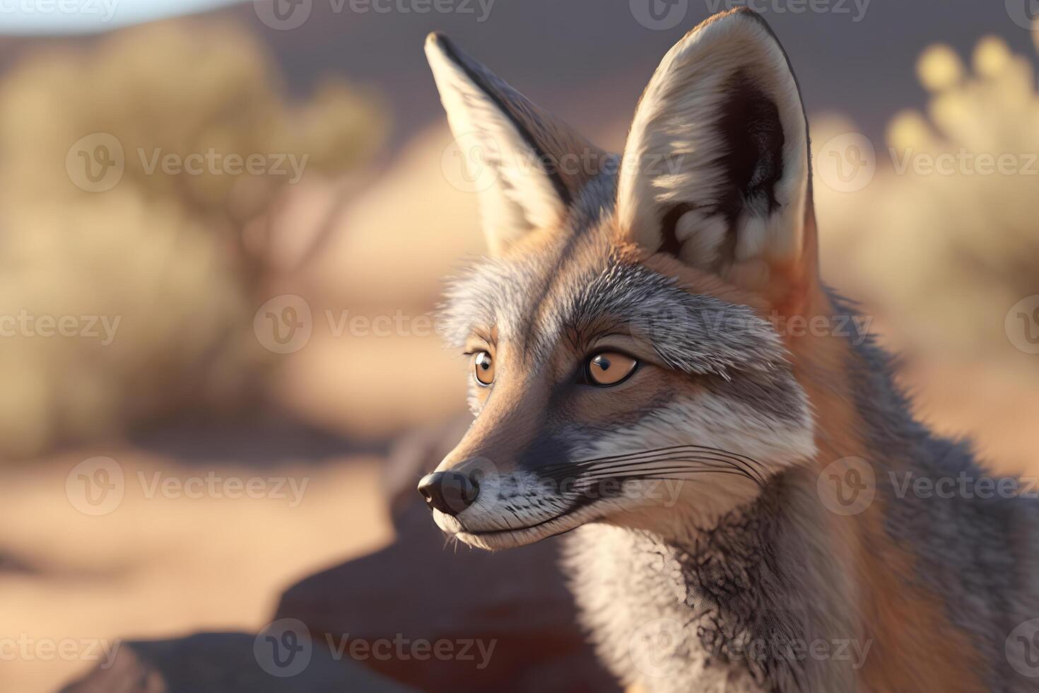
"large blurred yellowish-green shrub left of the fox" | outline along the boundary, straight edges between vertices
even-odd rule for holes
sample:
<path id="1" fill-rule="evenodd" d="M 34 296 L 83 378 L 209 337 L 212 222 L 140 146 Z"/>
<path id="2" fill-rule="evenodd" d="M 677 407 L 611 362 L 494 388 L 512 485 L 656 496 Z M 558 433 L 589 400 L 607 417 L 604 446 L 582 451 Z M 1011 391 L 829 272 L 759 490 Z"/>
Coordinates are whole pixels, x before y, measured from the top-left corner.
<path id="1" fill-rule="evenodd" d="M 279 86 L 250 34 L 199 22 L 32 55 L 0 81 L 0 456 L 247 394 L 266 267 L 243 229 L 295 182 L 290 161 L 340 171 L 380 139 L 377 107 L 347 86 L 299 104 Z M 118 149 L 122 178 L 92 188 L 77 162 Z M 19 316 L 32 328 L 12 330 Z M 83 319 L 42 337 L 44 316 Z M 100 318 L 119 321 L 110 344 Z"/>

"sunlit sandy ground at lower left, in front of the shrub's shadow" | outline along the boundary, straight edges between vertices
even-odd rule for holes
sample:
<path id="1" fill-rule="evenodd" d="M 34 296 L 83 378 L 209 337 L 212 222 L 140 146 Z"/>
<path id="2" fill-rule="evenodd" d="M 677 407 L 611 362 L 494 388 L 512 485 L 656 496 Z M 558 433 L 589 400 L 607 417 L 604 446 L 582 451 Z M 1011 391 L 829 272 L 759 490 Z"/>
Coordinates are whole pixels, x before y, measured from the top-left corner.
<path id="1" fill-rule="evenodd" d="M 257 631 L 286 586 L 392 540 L 371 457 L 256 469 L 127 447 L 105 453 L 122 500 L 91 507 L 85 468 L 66 486 L 88 454 L 0 472 L 0 553 L 21 564 L 0 571 L 0 690 L 55 690 L 119 637 Z"/>

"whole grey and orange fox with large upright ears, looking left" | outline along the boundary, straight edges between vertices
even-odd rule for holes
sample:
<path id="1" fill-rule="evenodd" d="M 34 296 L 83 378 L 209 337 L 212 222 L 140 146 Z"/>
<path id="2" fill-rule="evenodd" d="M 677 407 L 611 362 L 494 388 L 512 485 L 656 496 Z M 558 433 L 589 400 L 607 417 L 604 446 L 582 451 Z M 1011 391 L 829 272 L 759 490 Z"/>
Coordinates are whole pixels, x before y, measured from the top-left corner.
<path id="1" fill-rule="evenodd" d="M 446 36 L 425 52 L 488 248 L 437 323 L 474 417 L 419 481 L 437 527 L 565 535 L 582 625 L 634 690 L 1039 690 L 1037 504 L 914 417 L 823 282 L 766 21 L 689 31 L 619 155 Z"/>

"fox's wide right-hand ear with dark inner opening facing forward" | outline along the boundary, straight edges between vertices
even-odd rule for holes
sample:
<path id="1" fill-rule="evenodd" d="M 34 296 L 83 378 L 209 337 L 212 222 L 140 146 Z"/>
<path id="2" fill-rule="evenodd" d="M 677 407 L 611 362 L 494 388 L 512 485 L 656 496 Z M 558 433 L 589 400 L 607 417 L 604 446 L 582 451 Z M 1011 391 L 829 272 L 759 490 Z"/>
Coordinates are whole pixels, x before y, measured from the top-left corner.
<path id="1" fill-rule="evenodd" d="M 654 251 L 787 301 L 816 275 L 808 133 L 756 14 L 717 15 L 664 56 L 624 145 L 617 218 Z"/>

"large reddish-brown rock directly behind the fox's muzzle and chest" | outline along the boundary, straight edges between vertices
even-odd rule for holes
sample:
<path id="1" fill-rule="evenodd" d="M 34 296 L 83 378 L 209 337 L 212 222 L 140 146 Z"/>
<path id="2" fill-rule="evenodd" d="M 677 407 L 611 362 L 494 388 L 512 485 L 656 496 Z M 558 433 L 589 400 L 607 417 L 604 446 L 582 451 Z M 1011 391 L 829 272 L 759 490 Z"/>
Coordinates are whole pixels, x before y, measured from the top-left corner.
<path id="1" fill-rule="evenodd" d="M 297 618 L 345 660 L 426 691 L 619 691 L 577 625 L 556 539 L 494 554 L 445 542 L 415 490 L 444 448 L 424 435 L 388 468 L 396 541 L 289 588 L 275 618 Z M 368 651 L 376 642 L 378 656 Z M 426 642 L 439 656 L 420 658 Z"/>

